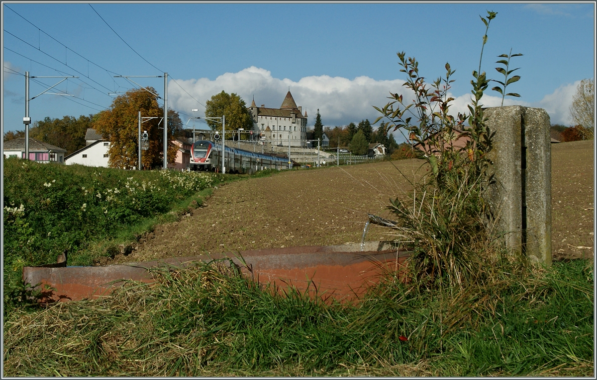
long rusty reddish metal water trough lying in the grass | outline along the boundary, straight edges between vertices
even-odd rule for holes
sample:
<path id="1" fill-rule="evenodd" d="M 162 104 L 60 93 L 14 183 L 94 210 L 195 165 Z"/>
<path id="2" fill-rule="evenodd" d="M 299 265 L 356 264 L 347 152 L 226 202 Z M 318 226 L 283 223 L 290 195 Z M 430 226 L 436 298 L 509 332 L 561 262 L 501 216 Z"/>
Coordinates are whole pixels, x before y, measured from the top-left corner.
<path id="1" fill-rule="evenodd" d="M 367 248 L 375 247 L 370 244 Z M 147 271 L 152 267 L 184 268 L 197 261 L 230 258 L 247 276 L 261 284 L 270 284 L 279 292 L 294 288 L 327 301 L 352 301 L 368 286 L 376 284 L 381 273 L 399 272 L 408 256 L 405 251 L 361 252 L 344 245 L 272 248 L 108 266 L 24 267 L 23 281 L 54 288 L 42 301 L 76 301 L 108 295 L 127 280 L 155 282 Z"/>

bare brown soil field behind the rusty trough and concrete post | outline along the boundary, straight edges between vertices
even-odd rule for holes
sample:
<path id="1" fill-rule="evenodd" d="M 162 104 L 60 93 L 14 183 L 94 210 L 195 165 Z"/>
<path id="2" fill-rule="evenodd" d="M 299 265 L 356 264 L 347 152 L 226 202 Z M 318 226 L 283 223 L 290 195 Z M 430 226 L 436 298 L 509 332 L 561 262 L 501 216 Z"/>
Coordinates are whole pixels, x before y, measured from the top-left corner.
<path id="1" fill-rule="evenodd" d="M 179 222 L 156 226 L 127 256 L 139 262 L 202 253 L 360 242 L 367 213 L 392 219 L 390 198 L 411 191 L 421 160 L 282 172 L 214 190 L 204 207 Z M 554 260 L 593 257 L 593 141 L 552 144 Z M 388 240 L 371 225 L 368 241 Z"/>

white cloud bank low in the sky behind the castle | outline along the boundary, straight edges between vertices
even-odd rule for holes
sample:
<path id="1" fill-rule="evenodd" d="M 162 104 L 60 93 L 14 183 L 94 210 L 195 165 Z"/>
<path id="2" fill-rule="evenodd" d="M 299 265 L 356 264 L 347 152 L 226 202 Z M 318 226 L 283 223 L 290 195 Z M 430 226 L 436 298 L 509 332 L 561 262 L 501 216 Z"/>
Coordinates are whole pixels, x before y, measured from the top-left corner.
<path id="1" fill-rule="evenodd" d="M 238 73 L 225 73 L 215 80 L 207 78 L 176 80 L 193 98 L 202 104 L 221 91 L 235 92 L 242 99 L 251 104 L 255 97 L 257 106 L 264 104 L 266 107 L 278 108 L 284 100 L 288 88 L 293 94 L 297 105 L 303 107 L 308 113 L 309 126 L 315 123 L 315 115 L 319 109 L 324 126 L 344 126 L 350 122 L 358 123 L 369 119 L 373 122 L 380 113 L 373 108 L 383 107 L 389 99 L 389 92 L 403 94 L 405 102 L 409 96 L 407 89 L 402 86 L 404 80 L 374 80 L 367 76 L 347 79 L 343 77 L 309 76 L 303 77 L 298 82 L 290 79 L 272 77 L 272 73 L 263 68 L 251 66 Z M 552 123 L 568 123 L 568 106 L 576 89 L 574 85 L 565 85 L 545 98 L 537 105 L 520 101 L 516 98 L 504 99 L 504 105 L 523 105 L 525 107 L 545 108 L 550 114 Z M 501 96 L 489 95 L 487 92 L 482 98 L 485 107 L 498 107 Z M 450 114 L 467 113 L 467 105 L 471 104 L 471 94 L 450 94 L 455 98 L 451 104 Z M 198 109 L 197 116 L 202 116 L 204 105 L 198 104 L 186 92 L 175 84 L 168 85 L 168 100 L 170 106 L 185 114 L 192 114 L 193 109 Z M 398 136 L 396 136 L 398 138 Z"/>

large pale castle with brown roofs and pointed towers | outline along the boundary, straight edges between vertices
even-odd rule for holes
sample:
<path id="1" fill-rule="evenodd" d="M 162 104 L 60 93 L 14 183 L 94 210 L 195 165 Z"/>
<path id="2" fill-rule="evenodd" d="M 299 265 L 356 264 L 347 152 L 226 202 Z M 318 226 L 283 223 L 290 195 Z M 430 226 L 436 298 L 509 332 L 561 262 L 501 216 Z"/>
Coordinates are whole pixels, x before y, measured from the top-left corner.
<path id="1" fill-rule="evenodd" d="M 257 107 L 255 99 L 249 107 L 253 117 L 254 139 L 265 139 L 272 145 L 305 147 L 307 137 L 307 111 L 297 106 L 293 95 L 286 94 L 280 108 Z"/>

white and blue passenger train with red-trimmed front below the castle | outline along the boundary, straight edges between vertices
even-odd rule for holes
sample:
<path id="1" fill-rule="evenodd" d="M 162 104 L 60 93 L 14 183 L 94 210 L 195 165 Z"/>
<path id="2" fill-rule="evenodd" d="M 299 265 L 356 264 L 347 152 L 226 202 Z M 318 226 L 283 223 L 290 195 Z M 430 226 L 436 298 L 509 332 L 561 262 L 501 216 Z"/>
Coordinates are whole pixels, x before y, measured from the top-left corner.
<path id="1" fill-rule="evenodd" d="M 221 168 L 221 147 L 207 140 L 195 141 L 191 147 L 190 170 Z M 294 164 L 294 163 L 293 163 Z M 227 173 L 254 173 L 264 169 L 288 169 L 288 158 L 226 147 L 224 167 Z"/>

